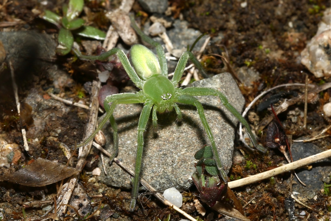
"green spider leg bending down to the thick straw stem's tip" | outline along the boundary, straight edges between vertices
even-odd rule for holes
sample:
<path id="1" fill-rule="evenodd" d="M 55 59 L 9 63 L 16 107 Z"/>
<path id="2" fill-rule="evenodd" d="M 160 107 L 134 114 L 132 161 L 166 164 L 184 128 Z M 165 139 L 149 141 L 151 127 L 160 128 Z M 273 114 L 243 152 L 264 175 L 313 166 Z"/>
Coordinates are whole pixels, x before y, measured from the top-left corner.
<path id="1" fill-rule="evenodd" d="M 207 136 L 208 136 L 208 138 L 209 138 L 209 140 L 212 144 L 213 155 L 214 155 L 214 158 L 215 158 L 215 161 L 216 161 L 217 169 L 218 169 L 223 181 L 226 183 L 228 181 L 228 177 L 227 177 L 225 171 L 223 170 L 222 162 L 221 162 L 221 159 L 218 155 L 218 151 L 217 151 L 217 148 L 216 148 L 216 145 L 215 145 L 213 133 L 212 133 L 212 130 L 210 129 L 209 124 L 207 122 L 207 119 L 206 119 L 206 116 L 205 116 L 205 113 L 204 113 L 204 108 L 202 107 L 202 104 L 198 101 L 197 98 L 195 98 L 193 96 L 189 96 L 189 95 L 179 95 L 178 96 L 178 102 L 183 103 L 183 104 L 191 104 L 191 105 L 196 106 L 196 108 L 198 110 L 199 117 L 201 119 L 201 123 L 204 126 L 204 128 L 206 130 L 206 133 L 207 133 Z"/>

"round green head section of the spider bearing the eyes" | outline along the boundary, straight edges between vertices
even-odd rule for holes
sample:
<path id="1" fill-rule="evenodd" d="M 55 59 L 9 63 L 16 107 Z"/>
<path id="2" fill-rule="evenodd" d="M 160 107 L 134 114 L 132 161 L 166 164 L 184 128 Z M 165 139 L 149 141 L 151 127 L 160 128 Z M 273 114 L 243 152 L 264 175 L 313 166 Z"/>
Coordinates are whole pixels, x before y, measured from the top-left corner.
<path id="1" fill-rule="evenodd" d="M 171 81 L 163 75 L 153 75 L 146 79 L 143 91 L 159 104 L 173 100 L 172 98 L 175 95 L 175 87 Z"/>

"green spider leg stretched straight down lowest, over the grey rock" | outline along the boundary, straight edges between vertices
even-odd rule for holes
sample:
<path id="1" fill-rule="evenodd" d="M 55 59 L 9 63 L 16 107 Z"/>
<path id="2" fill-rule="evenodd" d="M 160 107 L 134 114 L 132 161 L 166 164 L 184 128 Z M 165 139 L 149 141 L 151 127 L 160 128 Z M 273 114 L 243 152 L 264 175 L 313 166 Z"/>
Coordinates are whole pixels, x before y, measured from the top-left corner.
<path id="1" fill-rule="evenodd" d="M 143 155 L 143 148 L 144 148 L 144 132 L 146 129 L 147 121 L 149 115 L 151 113 L 152 107 L 154 102 L 150 99 L 144 104 L 143 110 L 141 111 L 138 123 L 138 137 L 137 137 L 137 157 L 136 157 L 136 165 L 134 168 L 134 178 L 132 183 L 132 199 L 130 203 L 130 210 L 134 210 L 134 206 L 136 205 L 136 200 L 138 198 L 138 191 L 139 191 L 139 174 L 141 169 L 141 159 Z M 154 112 L 154 111 L 153 111 Z"/>

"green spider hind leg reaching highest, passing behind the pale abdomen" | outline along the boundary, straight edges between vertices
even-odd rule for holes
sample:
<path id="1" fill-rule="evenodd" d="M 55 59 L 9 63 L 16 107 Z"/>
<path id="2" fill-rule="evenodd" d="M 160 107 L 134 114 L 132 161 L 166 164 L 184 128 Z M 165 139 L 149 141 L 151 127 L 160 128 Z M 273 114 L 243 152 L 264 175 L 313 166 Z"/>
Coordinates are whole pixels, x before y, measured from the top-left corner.
<path id="1" fill-rule="evenodd" d="M 138 28 L 133 16 L 130 16 L 130 20 L 131 20 L 132 28 L 137 32 L 137 34 L 139 34 L 141 39 L 143 41 L 153 45 L 156 48 L 156 53 L 158 55 L 158 60 L 160 63 L 162 75 L 168 76 L 168 66 L 167 66 L 167 62 L 166 62 L 166 55 L 165 55 L 162 45 L 159 42 L 156 42 L 152 38 L 148 37 L 140 28 Z"/>

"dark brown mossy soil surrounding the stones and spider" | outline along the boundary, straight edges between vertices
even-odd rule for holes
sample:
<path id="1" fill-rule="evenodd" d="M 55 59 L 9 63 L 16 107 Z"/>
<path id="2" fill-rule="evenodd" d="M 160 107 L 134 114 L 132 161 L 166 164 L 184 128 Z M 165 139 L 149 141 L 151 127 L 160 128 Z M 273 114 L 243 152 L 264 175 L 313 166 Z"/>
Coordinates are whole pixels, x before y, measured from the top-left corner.
<path id="1" fill-rule="evenodd" d="M 0 21 L 2 21 L 0 22 L 0 30 L 35 30 L 39 33 L 46 32 L 56 36 L 56 27 L 40 19 L 36 11 L 42 12 L 49 9 L 54 12 L 61 12 L 63 1 L 52 0 L 47 1 L 47 3 L 44 6 L 36 0 L 12 0 L 10 2 L 4 0 L 3 5 L 0 6 Z M 261 91 L 273 86 L 283 83 L 305 83 L 306 75 L 309 76 L 309 83 L 318 84 L 330 81 L 324 78 L 316 79 L 307 68 L 300 64 L 298 58 L 300 52 L 305 48 L 307 40 L 315 35 L 317 24 L 321 21 L 324 9 L 330 7 L 330 1 L 254 0 L 249 1 L 246 7 L 241 7 L 241 3 L 240 1 L 228 0 L 169 1 L 171 17 L 177 19 L 182 15 L 184 20 L 189 22 L 190 27 L 199 29 L 201 32 L 208 32 L 211 36 L 216 36 L 220 32 L 223 33 L 224 38 L 220 42 L 209 45 L 202 57 L 208 73 L 229 72 L 228 67 L 220 57 L 211 55 L 221 55 L 225 52 L 225 49 L 228 52 L 229 64 L 234 73 L 238 73 L 239 69 L 243 67 L 258 72 L 260 78 L 252 84 L 239 84 L 247 104 Z M 100 29 L 107 31 L 110 22 L 102 16 L 103 4 L 93 0 L 88 6 L 92 13 L 98 15 L 96 16 L 97 19 L 91 21 L 91 23 L 94 22 Z M 135 3 L 134 9 L 136 12 L 141 10 L 138 3 Z M 150 15 L 142 14 L 147 16 L 144 19 L 148 21 Z M 20 21 L 18 22 L 16 19 Z M 24 83 L 25 86 L 20 88 L 20 100 L 24 100 L 28 96 L 31 88 L 34 88 L 35 93 L 43 96 L 44 99 L 49 99 L 47 92 L 51 88 L 51 90 L 56 89 L 58 93 L 62 93 L 63 98 L 88 104 L 89 93 L 82 85 L 94 79 L 95 75 L 86 73 L 81 75 L 77 70 L 78 67 L 81 68 L 80 65 L 83 62 L 74 61 L 72 57 L 73 55 L 57 57 L 56 60 L 50 60 L 49 62 L 57 64 L 60 69 L 70 73 L 73 81 L 67 80 L 69 83 L 66 82 L 64 87 L 55 88 L 52 85 L 54 79 L 45 74 L 49 72 L 42 70 L 38 76 L 31 75 Z M 0 77 L 10 75 L 8 64 L 0 70 L 5 73 L 3 75 L 0 73 Z M 18 156 L 18 159 L 12 163 L 9 169 L 1 167 L 0 175 L 18 170 L 27 165 L 29 160 L 36 157 L 66 163 L 68 159 L 59 146 L 64 144 L 71 147 L 76 141 L 79 142 L 82 139 L 84 125 L 88 120 L 88 112 L 77 107 L 70 107 L 69 111 L 67 110 L 63 114 L 62 106 L 52 103 L 52 105 L 54 104 L 52 107 L 50 103 L 47 111 L 47 116 L 50 115 L 47 118 L 49 121 L 46 122 L 44 130 L 39 132 L 38 141 L 33 142 L 30 145 L 29 152 L 26 152 L 23 149 L 20 121 L 15 111 L 15 100 L 10 95 L 12 93 L 10 85 L 10 78 L 1 82 L 0 132 L 7 143 L 16 143 L 20 148 L 13 150 L 14 156 Z M 68 85 L 71 85 L 71 87 L 69 88 Z M 293 139 L 303 136 L 312 137 L 330 124 L 330 119 L 326 118 L 322 111 L 323 105 L 329 102 L 331 92 L 329 90 L 320 93 L 314 104 L 308 104 L 307 129 L 302 129 L 302 119 L 299 123 L 293 123 L 289 114 L 295 108 L 303 110 L 303 103 L 295 104 L 285 113 L 279 115 L 288 135 L 292 135 Z M 279 90 L 274 93 L 278 92 L 284 91 Z M 302 90 L 297 92 L 302 93 Z M 280 101 L 292 96 L 295 95 L 288 93 L 280 98 Z M 269 116 L 270 112 L 267 110 L 257 112 L 256 106 L 253 107 L 253 112 L 256 112 L 257 118 L 254 122 L 252 120 L 251 123 L 258 128 L 260 120 Z M 27 123 L 25 126 L 28 133 L 32 133 L 29 130 L 32 131 L 33 127 L 38 125 L 34 125 L 33 121 L 28 120 L 29 108 L 26 107 L 26 109 Z M 44 114 L 46 116 L 46 112 Z M 260 128 L 257 133 L 264 145 L 266 128 Z M 322 151 L 329 148 L 331 138 L 316 140 L 313 143 L 321 147 Z M 270 150 L 267 154 L 259 154 L 245 149 L 238 142 L 236 150 L 243 150 L 245 156 L 242 162 L 233 165 L 229 174 L 231 180 L 266 171 L 269 167 L 285 161 L 284 156 L 277 149 Z M 250 165 L 248 162 L 253 162 L 253 164 Z M 81 176 L 81 182 L 88 195 L 92 197 L 92 201 L 97 202 L 92 207 L 97 208 L 99 201 L 102 203 L 101 213 L 97 212 L 96 215 L 106 217 L 107 214 L 113 214 L 108 220 L 157 220 L 157 217 L 163 220 L 170 213 L 171 220 L 180 220 L 177 213 L 171 208 L 166 208 L 153 197 L 149 199 L 142 196 L 138 203 L 141 203 L 140 207 L 142 206 L 144 210 L 139 209 L 131 213 L 128 211 L 129 192 L 108 188 L 104 184 L 98 183 L 98 180 L 88 181 L 89 178 L 92 178 L 92 175 L 85 174 Z M 252 203 L 244 208 L 245 215 L 251 220 L 288 220 L 289 210 L 285 207 L 285 201 L 291 195 L 291 188 L 289 182 L 284 182 L 286 178 L 288 178 L 288 175 L 279 175 L 245 188 L 235 189 L 234 192 L 242 205 L 256 197 Z M 42 199 L 53 200 L 53 196 L 57 193 L 56 188 L 55 184 L 42 188 L 27 188 L 17 184 L 0 182 L 0 212 L 4 215 L 5 220 L 24 220 L 24 217 L 26 217 L 26 220 L 38 220 L 44 214 L 41 206 L 38 204 L 26 206 L 24 202 Z M 320 189 L 323 189 L 322 183 Z M 194 188 L 190 191 L 198 194 Z M 93 198 L 94 195 L 97 196 Z M 199 217 L 200 220 L 209 220 L 206 217 L 213 210 L 205 205 L 207 209 L 206 217 L 199 216 L 190 199 L 188 197 L 184 210 L 193 217 Z M 298 220 L 328 220 L 331 217 L 329 199 L 323 192 L 316 192 L 316 199 L 306 199 L 304 201 L 307 206 L 314 210 L 296 203 L 294 211 L 297 216 L 301 211 L 305 211 L 305 215 L 300 216 Z M 89 218 L 89 220 L 99 220 L 96 215 Z M 221 219 L 221 217 L 223 216 L 216 213 L 213 216 L 215 220 Z"/>

